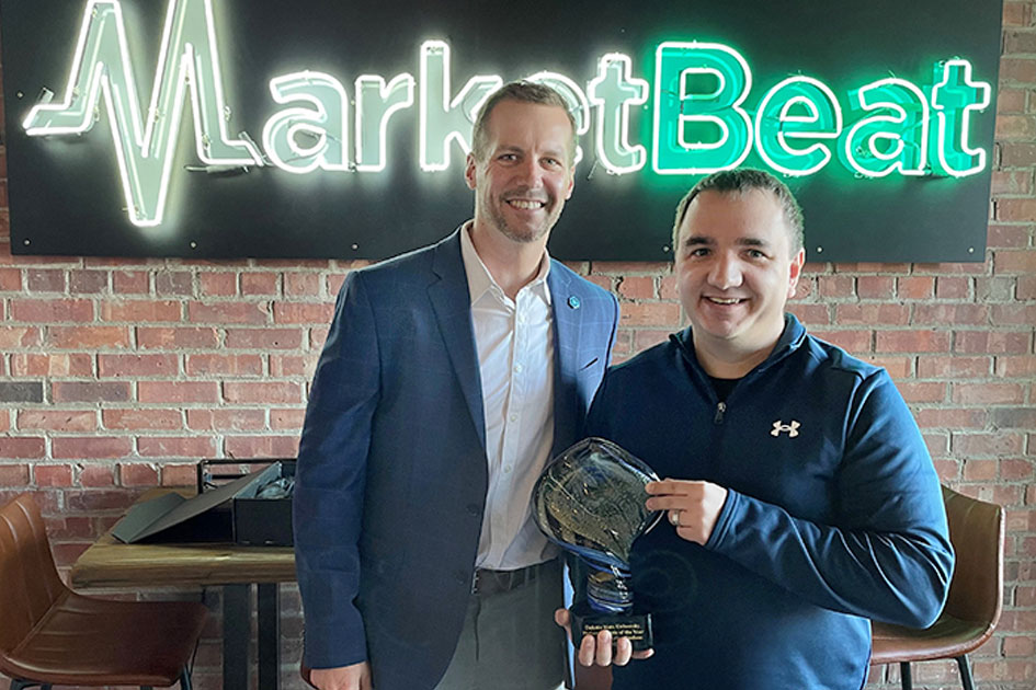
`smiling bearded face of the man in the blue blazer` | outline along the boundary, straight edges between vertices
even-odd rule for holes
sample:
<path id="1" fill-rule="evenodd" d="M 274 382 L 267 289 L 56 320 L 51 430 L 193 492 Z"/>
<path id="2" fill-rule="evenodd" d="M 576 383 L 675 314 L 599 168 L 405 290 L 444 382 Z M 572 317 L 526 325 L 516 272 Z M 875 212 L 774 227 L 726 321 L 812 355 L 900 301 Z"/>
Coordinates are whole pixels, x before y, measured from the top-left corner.
<path id="1" fill-rule="evenodd" d="M 485 160 L 467 158 L 475 223 L 517 243 L 546 241 L 572 195 L 572 126 L 561 107 L 501 101 L 490 114 Z"/>

